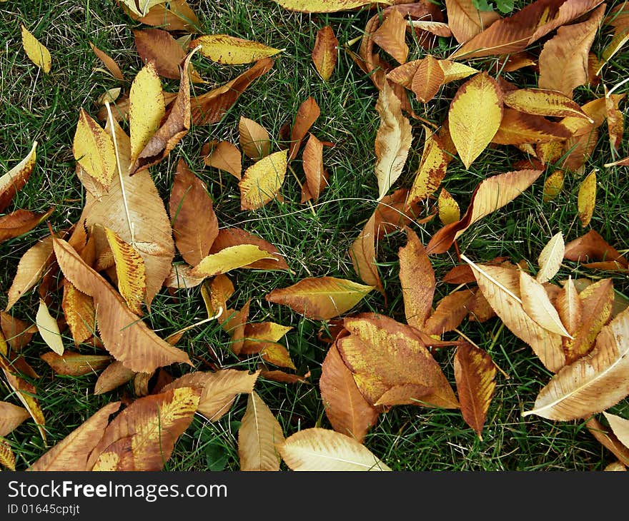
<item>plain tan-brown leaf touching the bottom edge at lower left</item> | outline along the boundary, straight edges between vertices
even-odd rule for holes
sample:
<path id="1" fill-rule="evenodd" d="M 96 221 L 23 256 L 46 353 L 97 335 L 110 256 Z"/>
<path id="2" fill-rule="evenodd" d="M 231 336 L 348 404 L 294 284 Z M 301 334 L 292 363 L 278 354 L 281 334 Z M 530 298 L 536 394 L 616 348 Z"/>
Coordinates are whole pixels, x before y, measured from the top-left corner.
<path id="1" fill-rule="evenodd" d="M 109 416 L 116 413 L 120 405 L 120 402 L 104 405 L 26 470 L 63 472 L 89 470 L 87 460 L 90 452 L 101 440 Z"/>

